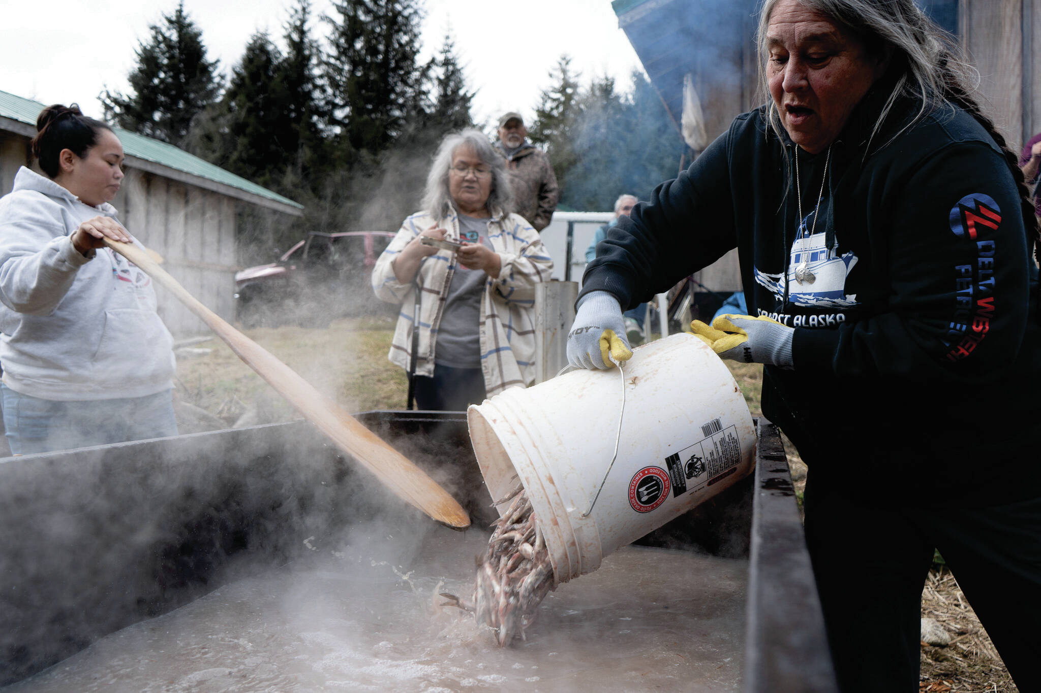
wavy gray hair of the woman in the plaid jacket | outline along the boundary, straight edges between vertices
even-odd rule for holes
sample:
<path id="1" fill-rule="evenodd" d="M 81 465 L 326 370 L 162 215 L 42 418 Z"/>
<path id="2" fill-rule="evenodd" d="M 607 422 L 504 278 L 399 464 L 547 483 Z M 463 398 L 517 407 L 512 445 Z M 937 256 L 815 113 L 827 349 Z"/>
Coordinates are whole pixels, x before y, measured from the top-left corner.
<path id="1" fill-rule="evenodd" d="M 506 159 L 500 156 L 491 142 L 480 130 L 467 128 L 461 132 L 453 132 L 445 136 L 437 146 L 434 162 L 427 175 L 427 188 L 423 193 L 423 209 L 431 216 L 441 219 L 454 207 L 452 193 L 449 191 L 449 169 L 452 168 L 452 157 L 460 146 L 467 145 L 474 150 L 477 157 L 491 169 L 491 190 L 488 202 L 485 203 L 489 213 L 494 210 L 509 214 L 513 211 L 513 192 L 510 189 L 510 177 L 506 172 Z"/>

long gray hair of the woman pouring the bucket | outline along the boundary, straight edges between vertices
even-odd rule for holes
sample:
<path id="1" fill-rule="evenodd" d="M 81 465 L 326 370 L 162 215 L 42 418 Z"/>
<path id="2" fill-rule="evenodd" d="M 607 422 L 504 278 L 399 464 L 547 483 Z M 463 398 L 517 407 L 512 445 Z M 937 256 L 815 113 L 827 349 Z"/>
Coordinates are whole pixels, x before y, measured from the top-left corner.
<path id="1" fill-rule="evenodd" d="M 780 0 L 763 0 L 759 12 L 759 29 L 756 43 L 759 47 L 760 83 L 765 92 L 767 117 L 770 127 L 780 136 L 783 126 L 767 84 L 766 61 L 767 28 L 770 14 Z M 904 132 L 928 114 L 941 109 L 958 106 L 967 111 L 987 130 L 1005 153 L 1006 162 L 1022 197 L 1023 222 L 1026 224 L 1027 241 L 1037 238 L 1037 217 L 1030 201 L 1030 190 L 1019 169 L 1019 157 L 1005 141 L 1005 137 L 994 127 L 973 92 L 980 82 L 980 73 L 969 64 L 963 52 L 949 34 L 936 26 L 913 0 L 797 0 L 807 9 L 831 18 L 864 42 L 873 55 L 888 55 L 889 72 L 898 73 L 898 78 L 886 101 L 871 132 L 873 139 L 889 115 L 893 104 L 910 98 L 919 104 L 918 112 L 903 125 L 896 133 Z M 896 135 L 894 135 L 895 137 Z M 1029 247 L 1029 246 L 1027 246 Z"/>

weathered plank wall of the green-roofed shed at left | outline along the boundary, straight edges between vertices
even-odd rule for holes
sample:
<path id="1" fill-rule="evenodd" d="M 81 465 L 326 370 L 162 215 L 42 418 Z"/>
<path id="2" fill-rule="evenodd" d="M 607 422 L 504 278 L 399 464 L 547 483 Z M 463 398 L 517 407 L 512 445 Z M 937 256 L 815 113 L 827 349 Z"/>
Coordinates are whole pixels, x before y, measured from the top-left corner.
<path id="1" fill-rule="evenodd" d="M 0 132 L 0 194 L 10 191 L 27 165 L 28 139 Z M 40 172 L 39 168 L 35 168 Z M 128 168 L 112 205 L 120 220 L 163 258 L 163 268 L 225 320 L 234 319 L 235 201 L 193 185 Z M 175 337 L 208 328 L 180 301 L 156 289 L 159 317 Z"/>

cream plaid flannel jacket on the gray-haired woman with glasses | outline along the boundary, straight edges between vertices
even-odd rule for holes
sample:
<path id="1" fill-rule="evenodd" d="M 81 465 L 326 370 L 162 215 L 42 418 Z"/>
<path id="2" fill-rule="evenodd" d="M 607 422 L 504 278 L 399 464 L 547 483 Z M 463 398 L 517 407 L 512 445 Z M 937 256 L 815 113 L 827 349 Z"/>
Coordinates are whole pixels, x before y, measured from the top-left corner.
<path id="1" fill-rule="evenodd" d="M 395 257 L 421 232 L 437 223 L 447 237 L 459 240 L 459 219 L 454 210 L 443 219 L 417 212 L 398 231 L 390 245 L 373 268 L 372 284 L 376 296 L 390 303 L 400 303 L 393 341 L 387 357 L 408 370 L 412 347 L 412 315 L 415 308 L 415 286 L 402 284 L 393 273 Z M 535 381 L 535 285 L 549 282 L 553 259 L 539 240 L 538 233 L 518 214 L 493 214 L 488 223 L 488 241 L 499 254 L 502 270 L 488 277 L 481 296 L 481 371 L 488 397 L 507 388 L 525 388 Z M 456 256 L 439 249 L 420 269 L 423 285 L 420 303 L 420 347 L 415 372 L 434 373 L 434 346 L 437 325 L 448 298 Z"/>

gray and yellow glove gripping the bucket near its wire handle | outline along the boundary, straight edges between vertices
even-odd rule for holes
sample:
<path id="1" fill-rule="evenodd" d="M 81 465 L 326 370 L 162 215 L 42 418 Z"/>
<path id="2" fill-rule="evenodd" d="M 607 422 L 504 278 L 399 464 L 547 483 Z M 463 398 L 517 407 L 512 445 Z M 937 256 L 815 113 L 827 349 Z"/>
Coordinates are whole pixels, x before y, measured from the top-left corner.
<path id="1" fill-rule="evenodd" d="M 623 362 L 632 355 L 617 299 L 606 291 L 583 296 L 567 332 L 567 363 L 603 371 L 614 368 L 611 358 Z"/>

